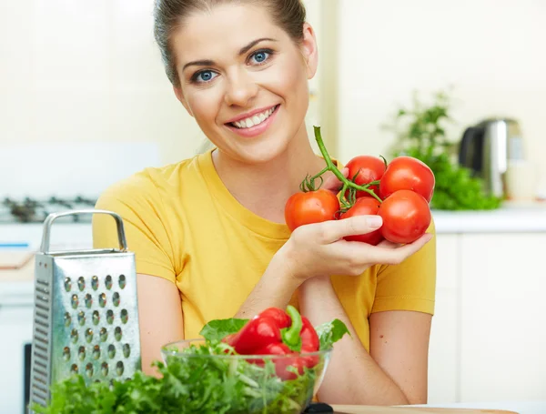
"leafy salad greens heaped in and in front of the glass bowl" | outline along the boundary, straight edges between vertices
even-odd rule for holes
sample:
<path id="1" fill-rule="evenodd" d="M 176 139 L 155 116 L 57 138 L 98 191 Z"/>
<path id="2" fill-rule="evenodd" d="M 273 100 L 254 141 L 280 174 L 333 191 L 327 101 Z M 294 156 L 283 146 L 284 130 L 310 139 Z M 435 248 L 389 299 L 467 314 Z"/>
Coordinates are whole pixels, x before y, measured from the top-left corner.
<path id="1" fill-rule="evenodd" d="M 300 413 L 313 397 L 325 360 L 296 379 L 282 380 L 272 360 L 227 358 L 219 339 L 242 324 L 240 319 L 211 321 L 201 331 L 204 344 L 178 349 L 167 364 L 154 363 L 161 378 L 139 371 L 110 385 L 76 375 L 54 384 L 48 407 L 33 409 L 42 414 Z M 321 345 L 331 348 L 347 331 L 343 327 L 337 319 L 321 325 Z M 218 355 L 224 358 L 213 357 Z"/>

